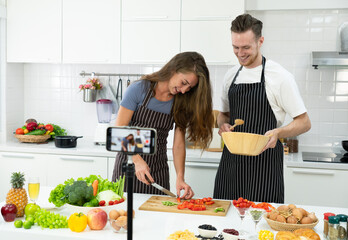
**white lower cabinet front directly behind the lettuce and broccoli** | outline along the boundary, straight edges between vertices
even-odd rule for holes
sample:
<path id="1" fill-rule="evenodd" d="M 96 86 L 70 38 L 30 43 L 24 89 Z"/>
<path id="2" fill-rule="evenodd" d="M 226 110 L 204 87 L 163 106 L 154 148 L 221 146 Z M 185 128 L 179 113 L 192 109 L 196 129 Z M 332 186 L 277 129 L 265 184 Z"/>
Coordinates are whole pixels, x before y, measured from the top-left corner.
<path id="1" fill-rule="evenodd" d="M 107 158 L 71 155 L 47 155 L 47 186 L 55 187 L 69 178 L 88 177 L 91 174 L 107 178 Z"/>

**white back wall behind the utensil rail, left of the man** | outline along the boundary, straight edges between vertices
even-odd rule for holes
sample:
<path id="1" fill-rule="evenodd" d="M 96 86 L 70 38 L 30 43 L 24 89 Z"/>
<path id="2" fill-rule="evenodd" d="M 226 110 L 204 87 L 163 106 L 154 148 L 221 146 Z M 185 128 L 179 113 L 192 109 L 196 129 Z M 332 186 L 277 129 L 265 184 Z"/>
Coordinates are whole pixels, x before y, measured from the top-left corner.
<path id="1" fill-rule="evenodd" d="M 21 121 L 24 123 L 28 118 L 35 118 L 40 122 L 58 124 L 67 129 L 69 134 L 92 137 L 97 125 L 96 104 L 83 102 L 83 93 L 79 92 L 78 86 L 85 83 L 88 77 L 81 77 L 80 72 L 145 74 L 157 71 L 160 67 L 159 65 L 24 64 L 24 112 Z M 215 85 L 221 85 L 219 82 L 222 81 L 227 69 L 228 66 L 210 67 L 213 89 L 218 89 Z M 108 77 L 100 79 L 107 85 Z M 122 79 L 125 90 L 128 77 Z M 129 79 L 134 81 L 137 78 Z M 118 80 L 118 76 L 111 77 L 113 88 L 116 88 Z M 107 95 L 106 89 L 102 95 Z M 214 93 L 215 107 L 219 103 L 218 95 Z"/>

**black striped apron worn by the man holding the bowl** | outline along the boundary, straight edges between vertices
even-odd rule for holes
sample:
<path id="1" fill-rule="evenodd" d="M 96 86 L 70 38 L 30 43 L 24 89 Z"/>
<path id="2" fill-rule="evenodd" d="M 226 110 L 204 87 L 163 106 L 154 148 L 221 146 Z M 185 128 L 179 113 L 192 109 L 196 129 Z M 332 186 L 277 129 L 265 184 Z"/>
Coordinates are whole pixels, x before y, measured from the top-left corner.
<path id="1" fill-rule="evenodd" d="M 262 57 L 261 82 L 235 84 L 241 66 L 229 88 L 230 124 L 238 118 L 244 120 L 244 124 L 237 127 L 239 132 L 263 135 L 277 127 L 266 95 L 265 63 L 266 58 Z M 283 146 L 279 140 L 275 148 L 258 156 L 231 154 L 224 147 L 215 178 L 214 198 L 239 197 L 256 202 L 284 202 Z"/>

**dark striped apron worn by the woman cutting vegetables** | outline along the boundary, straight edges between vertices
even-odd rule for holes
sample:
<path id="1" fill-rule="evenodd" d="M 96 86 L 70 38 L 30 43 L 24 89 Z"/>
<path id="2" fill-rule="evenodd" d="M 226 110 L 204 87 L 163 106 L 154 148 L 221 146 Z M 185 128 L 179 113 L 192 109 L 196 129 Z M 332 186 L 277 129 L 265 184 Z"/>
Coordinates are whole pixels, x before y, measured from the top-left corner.
<path id="1" fill-rule="evenodd" d="M 156 183 L 169 189 L 169 167 L 167 158 L 167 137 L 173 129 L 174 119 L 171 114 L 153 111 L 147 108 L 152 97 L 149 89 L 142 105 L 134 112 L 129 126 L 155 128 L 157 130 L 157 151 L 153 155 L 140 154 L 150 168 L 150 174 Z M 122 163 L 128 161 L 127 155 L 120 152 L 116 156 L 112 181 L 116 181 L 122 173 Z M 164 194 L 151 185 L 146 185 L 136 177 L 133 180 L 134 193 Z M 127 178 L 124 189 L 127 189 Z"/>

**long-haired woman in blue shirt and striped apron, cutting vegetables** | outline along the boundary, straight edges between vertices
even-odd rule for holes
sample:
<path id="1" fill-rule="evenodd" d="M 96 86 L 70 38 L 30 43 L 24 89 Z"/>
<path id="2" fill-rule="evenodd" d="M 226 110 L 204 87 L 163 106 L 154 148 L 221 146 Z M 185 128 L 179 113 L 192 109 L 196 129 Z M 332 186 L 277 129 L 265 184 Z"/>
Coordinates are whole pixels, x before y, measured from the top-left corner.
<path id="1" fill-rule="evenodd" d="M 169 189 L 167 137 L 174 123 L 176 192 L 180 196 L 183 190 L 180 197 L 191 198 L 194 192 L 184 179 L 185 134 L 187 131 L 189 141 L 206 148 L 212 137 L 213 126 L 209 70 L 199 53 L 177 54 L 161 70 L 143 76 L 125 92 L 116 126 L 151 127 L 157 130 L 156 154 L 133 156 L 137 177 L 134 180 L 134 192 L 162 194 L 149 184 L 145 175 Z M 118 153 L 114 181 L 122 175 L 124 162 L 127 162 L 127 156 Z"/>

